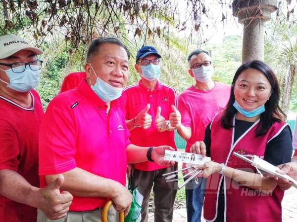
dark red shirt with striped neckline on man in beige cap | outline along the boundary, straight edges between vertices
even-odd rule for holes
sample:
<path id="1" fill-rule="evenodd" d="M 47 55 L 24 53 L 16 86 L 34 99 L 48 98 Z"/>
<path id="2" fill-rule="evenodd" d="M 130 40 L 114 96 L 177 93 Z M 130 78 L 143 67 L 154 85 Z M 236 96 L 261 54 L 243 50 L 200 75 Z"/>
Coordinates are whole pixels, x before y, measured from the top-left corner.
<path id="1" fill-rule="evenodd" d="M 39 187 L 38 135 L 44 111 L 38 93 L 31 90 L 30 95 L 33 108 L 24 108 L 0 96 L 0 170 L 14 170 L 29 184 Z M 36 220 L 36 208 L 0 195 L 1 222 Z"/>

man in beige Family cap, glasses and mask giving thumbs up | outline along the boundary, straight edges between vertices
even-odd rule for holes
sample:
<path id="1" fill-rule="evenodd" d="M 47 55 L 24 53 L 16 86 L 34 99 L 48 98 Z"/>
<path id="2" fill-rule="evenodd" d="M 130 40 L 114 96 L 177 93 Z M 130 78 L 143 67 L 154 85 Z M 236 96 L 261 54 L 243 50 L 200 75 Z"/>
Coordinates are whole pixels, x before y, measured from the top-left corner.
<path id="1" fill-rule="evenodd" d="M 38 93 L 43 52 L 15 35 L 0 37 L 0 221 L 36 222 L 66 215 L 72 195 L 60 193 L 62 175 L 43 189 L 38 177 L 38 135 L 44 112 Z"/>

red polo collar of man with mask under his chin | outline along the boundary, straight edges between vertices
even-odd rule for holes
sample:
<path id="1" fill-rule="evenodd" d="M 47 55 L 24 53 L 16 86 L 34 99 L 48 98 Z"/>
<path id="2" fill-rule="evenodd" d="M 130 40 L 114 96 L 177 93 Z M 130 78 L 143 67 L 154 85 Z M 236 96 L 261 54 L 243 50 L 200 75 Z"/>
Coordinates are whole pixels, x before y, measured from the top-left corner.
<path id="1" fill-rule="evenodd" d="M 107 104 L 103 100 L 100 99 L 100 97 L 93 91 L 93 89 L 89 86 L 86 79 L 82 79 L 79 86 L 78 91 L 83 94 L 88 101 L 93 103 L 96 107 L 106 107 Z M 119 101 L 118 99 L 111 101 L 110 107 L 118 107 Z"/>

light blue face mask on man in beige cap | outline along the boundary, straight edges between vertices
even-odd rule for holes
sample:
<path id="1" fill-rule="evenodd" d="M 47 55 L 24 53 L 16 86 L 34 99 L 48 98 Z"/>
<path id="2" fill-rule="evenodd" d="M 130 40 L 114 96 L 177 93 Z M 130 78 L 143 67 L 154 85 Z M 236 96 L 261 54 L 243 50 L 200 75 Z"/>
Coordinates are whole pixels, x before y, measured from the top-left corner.
<path id="1" fill-rule="evenodd" d="M 31 65 L 31 67 L 33 67 Z M 38 66 L 36 66 L 38 69 Z M 18 70 L 23 70 L 24 67 L 20 66 L 17 68 L 13 68 L 15 72 L 18 72 Z M 1 69 L 2 70 L 2 69 Z M 34 89 L 37 84 L 40 82 L 40 72 L 41 70 L 31 70 L 29 66 L 26 66 L 26 69 L 22 73 L 14 73 L 12 69 L 9 70 L 3 70 L 8 78 L 9 83 L 3 81 L 0 79 L 0 81 L 7 84 L 7 87 L 14 89 L 19 92 L 28 92 L 31 89 Z"/>

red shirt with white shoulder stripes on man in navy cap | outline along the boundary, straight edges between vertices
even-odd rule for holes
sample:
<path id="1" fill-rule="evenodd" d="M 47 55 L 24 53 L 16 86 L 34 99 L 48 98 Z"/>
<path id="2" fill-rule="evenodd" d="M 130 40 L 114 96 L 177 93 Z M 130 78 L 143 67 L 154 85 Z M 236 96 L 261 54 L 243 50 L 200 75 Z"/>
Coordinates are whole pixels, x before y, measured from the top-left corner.
<path id="1" fill-rule="evenodd" d="M 161 107 L 161 115 L 168 120 L 169 114 L 173 112 L 171 105 L 177 106 L 177 92 L 176 90 L 163 83 L 157 81 L 156 87 L 153 91 L 146 88 L 141 80 L 139 83 L 127 86 L 124 89 L 124 96 L 126 97 L 126 119 L 132 119 L 138 113 L 144 110 L 147 104 L 150 104 L 148 113 L 151 115 L 152 123 L 148 129 L 138 127 L 130 131 L 130 140 L 132 144 L 141 147 L 157 147 L 161 145 L 171 146 L 176 149 L 174 142 L 174 131 L 158 132 L 155 125 L 155 116 L 157 108 Z M 166 166 L 159 166 L 154 162 L 143 162 L 134 164 L 135 169 L 143 171 L 152 171 L 166 168 Z"/>

